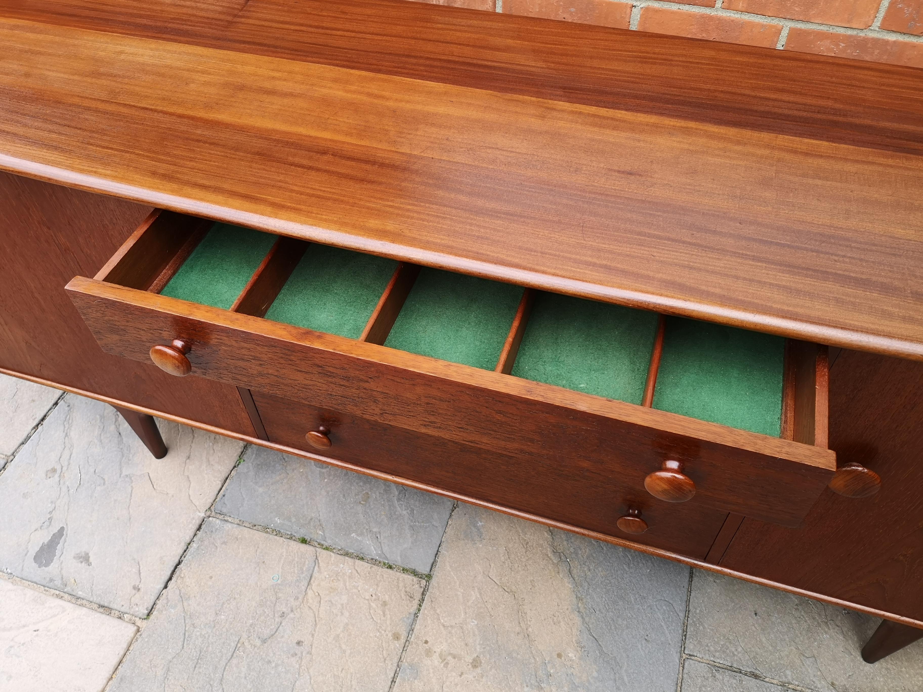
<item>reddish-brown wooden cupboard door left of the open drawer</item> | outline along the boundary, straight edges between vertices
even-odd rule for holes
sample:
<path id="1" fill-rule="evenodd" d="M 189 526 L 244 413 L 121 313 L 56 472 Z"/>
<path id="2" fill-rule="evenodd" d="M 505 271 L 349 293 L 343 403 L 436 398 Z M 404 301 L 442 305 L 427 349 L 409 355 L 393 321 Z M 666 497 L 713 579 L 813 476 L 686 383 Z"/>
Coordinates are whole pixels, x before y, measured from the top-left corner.
<path id="1" fill-rule="evenodd" d="M 0 173 L 0 217 L 0 368 L 253 435 L 233 387 L 102 352 L 63 290 L 116 256 L 150 207 Z"/>

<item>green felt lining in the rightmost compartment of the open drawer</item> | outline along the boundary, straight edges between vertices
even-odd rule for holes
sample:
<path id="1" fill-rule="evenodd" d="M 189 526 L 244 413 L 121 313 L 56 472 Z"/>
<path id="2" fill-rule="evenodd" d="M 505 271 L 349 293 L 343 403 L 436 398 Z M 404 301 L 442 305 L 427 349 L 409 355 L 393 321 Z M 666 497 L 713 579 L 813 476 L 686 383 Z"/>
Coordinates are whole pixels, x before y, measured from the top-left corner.
<path id="1" fill-rule="evenodd" d="M 778 437 L 784 364 L 782 337 L 670 317 L 653 408 Z"/>

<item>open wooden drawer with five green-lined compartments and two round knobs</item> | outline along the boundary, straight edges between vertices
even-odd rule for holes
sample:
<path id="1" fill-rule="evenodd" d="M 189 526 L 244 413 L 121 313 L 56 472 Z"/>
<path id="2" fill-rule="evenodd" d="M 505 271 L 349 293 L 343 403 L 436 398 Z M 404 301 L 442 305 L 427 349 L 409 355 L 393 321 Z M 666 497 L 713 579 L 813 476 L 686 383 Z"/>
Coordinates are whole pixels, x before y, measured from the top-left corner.
<path id="1" fill-rule="evenodd" d="M 796 526 L 835 470 L 814 344 L 166 211 L 67 291 L 106 352 L 617 478 L 665 510 Z"/>

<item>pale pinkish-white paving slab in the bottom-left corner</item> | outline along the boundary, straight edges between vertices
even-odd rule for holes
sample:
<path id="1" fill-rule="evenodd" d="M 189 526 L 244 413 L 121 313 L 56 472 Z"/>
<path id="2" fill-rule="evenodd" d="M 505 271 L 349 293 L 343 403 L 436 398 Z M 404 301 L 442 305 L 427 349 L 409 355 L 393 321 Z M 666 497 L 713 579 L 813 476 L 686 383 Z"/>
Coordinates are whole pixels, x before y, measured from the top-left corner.
<path id="1" fill-rule="evenodd" d="M 0 689 L 100 692 L 136 629 L 0 579 Z"/>

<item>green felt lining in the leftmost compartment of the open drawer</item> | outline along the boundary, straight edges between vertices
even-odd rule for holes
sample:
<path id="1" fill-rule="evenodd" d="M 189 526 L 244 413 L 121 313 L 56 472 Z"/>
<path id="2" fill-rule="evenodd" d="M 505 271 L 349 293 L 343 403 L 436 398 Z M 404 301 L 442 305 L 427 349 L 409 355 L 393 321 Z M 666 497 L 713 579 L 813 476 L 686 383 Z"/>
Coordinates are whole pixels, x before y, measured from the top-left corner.
<path id="1" fill-rule="evenodd" d="M 227 310 L 275 241 L 271 233 L 215 223 L 161 294 Z"/>

